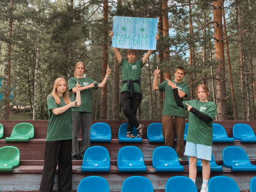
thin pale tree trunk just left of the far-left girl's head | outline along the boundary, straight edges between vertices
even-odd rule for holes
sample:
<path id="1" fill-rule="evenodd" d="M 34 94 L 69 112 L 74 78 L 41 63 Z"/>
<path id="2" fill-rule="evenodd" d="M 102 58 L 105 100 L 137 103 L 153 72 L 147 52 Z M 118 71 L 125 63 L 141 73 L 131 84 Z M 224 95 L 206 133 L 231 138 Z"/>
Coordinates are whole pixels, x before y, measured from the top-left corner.
<path id="1" fill-rule="evenodd" d="M 33 100 L 33 120 L 36 120 L 36 111 L 37 111 L 37 79 L 38 79 L 38 65 L 39 65 L 39 46 L 40 46 L 40 33 L 36 37 L 36 65 L 35 65 L 35 81 L 34 81 L 34 100 Z"/>

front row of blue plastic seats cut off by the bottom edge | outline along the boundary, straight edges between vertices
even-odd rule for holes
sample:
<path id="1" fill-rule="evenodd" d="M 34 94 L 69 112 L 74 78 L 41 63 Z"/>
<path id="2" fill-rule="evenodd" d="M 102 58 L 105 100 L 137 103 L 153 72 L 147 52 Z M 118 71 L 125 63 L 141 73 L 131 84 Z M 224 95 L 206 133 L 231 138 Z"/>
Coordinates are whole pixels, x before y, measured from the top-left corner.
<path id="1" fill-rule="evenodd" d="M 236 181 L 227 176 L 215 176 L 209 180 L 209 192 L 239 192 Z M 89 176 L 79 183 L 77 192 L 109 192 L 109 184 L 104 177 Z M 122 192 L 154 192 L 152 182 L 147 177 L 131 176 L 124 180 Z M 197 192 L 193 180 L 184 176 L 174 176 L 167 180 L 166 192 Z M 250 192 L 256 192 L 256 177 L 250 181 Z"/>

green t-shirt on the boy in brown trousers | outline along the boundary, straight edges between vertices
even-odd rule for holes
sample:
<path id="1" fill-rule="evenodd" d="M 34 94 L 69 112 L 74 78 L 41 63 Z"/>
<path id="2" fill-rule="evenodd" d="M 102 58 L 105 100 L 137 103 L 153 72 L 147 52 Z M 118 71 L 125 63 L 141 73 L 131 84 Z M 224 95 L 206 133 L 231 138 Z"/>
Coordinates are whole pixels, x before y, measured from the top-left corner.
<path id="1" fill-rule="evenodd" d="M 183 82 L 177 83 L 175 81 L 172 81 L 172 83 L 176 83 L 179 90 L 186 93 L 186 97 L 188 97 L 188 84 Z M 162 115 L 185 117 L 184 108 L 180 108 L 179 106 L 177 106 L 173 95 L 172 87 L 168 85 L 168 80 L 164 81 L 161 84 L 158 84 L 158 88 L 160 92 L 164 92 L 164 109 Z"/>

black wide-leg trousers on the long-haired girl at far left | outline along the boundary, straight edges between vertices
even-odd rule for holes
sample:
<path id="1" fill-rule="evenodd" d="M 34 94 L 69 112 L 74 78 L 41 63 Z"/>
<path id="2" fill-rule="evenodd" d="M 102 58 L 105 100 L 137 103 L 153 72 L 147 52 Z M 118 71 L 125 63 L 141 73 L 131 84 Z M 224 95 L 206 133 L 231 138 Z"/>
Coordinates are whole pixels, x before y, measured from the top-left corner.
<path id="1" fill-rule="evenodd" d="M 72 189 L 72 140 L 47 141 L 40 191 L 51 192 L 58 163 L 58 191 Z"/>

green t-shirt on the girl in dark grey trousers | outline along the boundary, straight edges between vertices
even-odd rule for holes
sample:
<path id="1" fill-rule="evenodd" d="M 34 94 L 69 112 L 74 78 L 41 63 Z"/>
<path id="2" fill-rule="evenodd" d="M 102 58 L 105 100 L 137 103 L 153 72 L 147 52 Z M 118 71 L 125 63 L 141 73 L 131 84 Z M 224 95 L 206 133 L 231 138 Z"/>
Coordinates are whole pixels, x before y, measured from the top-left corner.
<path id="1" fill-rule="evenodd" d="M 77 78 L 72 77 L 68 81 L 68 91 L 72 92 L 72 88 L 76 87 L 76 82 L 83 86 L 88 86 L 94 82 L 93 79 L 83 77 L 83 78 Z M 73 108 L 72 111 L 76 112 L 88 112 L 92 113 L 92 89 L 97 90 L 99 83 L 95 83 L 94 88 L 86 89 L 80 92 L 81 94 L 81 106 L 77 108 Z M 72 100 L 76 100 L 76 93 L 72 92 Z"/>

